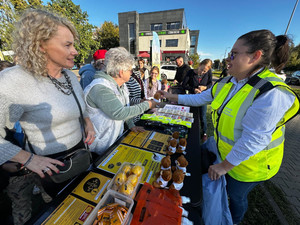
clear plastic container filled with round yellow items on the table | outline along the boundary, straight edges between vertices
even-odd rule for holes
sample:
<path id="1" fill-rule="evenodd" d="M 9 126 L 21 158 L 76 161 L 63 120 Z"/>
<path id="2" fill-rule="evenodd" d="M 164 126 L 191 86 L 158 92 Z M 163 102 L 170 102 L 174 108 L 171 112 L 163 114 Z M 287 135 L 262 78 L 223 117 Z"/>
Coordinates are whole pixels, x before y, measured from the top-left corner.
<path id="1" fill-rule="evenodd" d="M 136 171 L 138 169 L 138 171 Z M 140 164 L 124 162 L 107 186 L 107 190 L 114 190 L 130 198 L 134 198 L 141 182 L 145 168 Z"/>

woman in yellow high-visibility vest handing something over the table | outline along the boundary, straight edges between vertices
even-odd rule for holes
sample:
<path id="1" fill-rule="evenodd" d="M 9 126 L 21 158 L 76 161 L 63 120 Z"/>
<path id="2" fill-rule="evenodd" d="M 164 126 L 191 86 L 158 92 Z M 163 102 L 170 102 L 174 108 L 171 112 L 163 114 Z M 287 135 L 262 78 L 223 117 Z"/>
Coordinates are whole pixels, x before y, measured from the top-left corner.
<path id="1" fill-rule="evenodd" d="M 179 104 L 211 104 L 214 138 L 222 159 L 211 165 L 208 176 L 217 180 L 226 174 L 233 223 L 242 221 L 248 208 L 248 193 L 274 176 L 281 165 L 285 123 L 299 112 L 297 95 L 274 73 L 289 58 L 290 40 L 269 30 L 239 37 L 228 54 L 227 76 L 197 95 L 165 98 Z"/>

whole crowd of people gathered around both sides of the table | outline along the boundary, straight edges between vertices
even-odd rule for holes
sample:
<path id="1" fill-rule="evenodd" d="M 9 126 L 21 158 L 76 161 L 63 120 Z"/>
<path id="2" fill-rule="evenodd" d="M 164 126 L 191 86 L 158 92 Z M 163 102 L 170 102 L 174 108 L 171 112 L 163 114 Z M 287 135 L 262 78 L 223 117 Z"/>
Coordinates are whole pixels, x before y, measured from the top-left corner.
<path id="1" fill-rule="evenodd" d="M 184 92 L 177 95 L 167 80 L 158 79 L 158 67 L 149 71 L 143 59 L 135 67 L 135 59 L 123 47 L 97 50 L 93 62 L 80 69 L 78 82 L 66 69 L 74 66 L 77 36 L 67 19 L 44 10 L 26 10 L 15 25 L 16 65 L 0 64 L 1 183 L 6 177 L 14 224 L 31 218 L 34 185 L 52 199 L 66 184 L 46 179 L 64 167 L 58 156 L 86 148 L 98 157 L 125 127 L 144 131 L 135 123 L 159 104 L 153 100 L 156 92 L 199 107 L 203 142 L 207 104 L 211 104 L 223 161 L 210 166 L 208 174 L 211 180 L 226 175 L 233 222 L 239 223 L 249 191 L 279 170 L 284 124 L 299 110 L 297 96 L 267 69 L 272 63 L 276 71 L 281 70 L 287 62 L 289 39 L 268 30 L 241 36 L 227 58 L 226 75 L 214 85 L 210 59 L 191 69 L 179 56 L 174 84 Z M 16 124 L 24 134 L 19 144 L 8 138 Z M 10 176 L 4 172 L 7 167 Z"/>

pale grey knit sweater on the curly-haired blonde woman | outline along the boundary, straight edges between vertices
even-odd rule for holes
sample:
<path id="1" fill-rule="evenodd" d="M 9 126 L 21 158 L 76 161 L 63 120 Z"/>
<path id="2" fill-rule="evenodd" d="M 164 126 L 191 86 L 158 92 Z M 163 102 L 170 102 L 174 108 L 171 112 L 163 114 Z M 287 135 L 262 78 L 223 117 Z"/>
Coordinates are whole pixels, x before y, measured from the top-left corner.
<path id="1" fill-rule="evenodd" d="M 84 112 L 83 92 L 77 77 L 66 72 Z M 20 66 L 3 70 L 0 73 L 0 165 L 21 150 L 3 139 L 5 126 L 12 128 L 19 120 L 35 153 L 49 155 L 65 151 L 81 140 L 79 116 L 74 96 L 63 94 L 49 78 L 36 78 Z"/>

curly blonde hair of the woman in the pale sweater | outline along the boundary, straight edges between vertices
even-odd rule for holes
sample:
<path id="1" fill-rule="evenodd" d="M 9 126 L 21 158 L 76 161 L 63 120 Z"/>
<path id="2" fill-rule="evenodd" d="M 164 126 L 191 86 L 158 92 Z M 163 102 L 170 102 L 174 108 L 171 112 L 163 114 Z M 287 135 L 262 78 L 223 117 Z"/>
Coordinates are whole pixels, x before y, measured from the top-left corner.
<path id="1" fill-rule="evenodd" d="M 67 27 L 78 39 L 68 19 L 41 9 L 26 10 L 15 25 L 13 50 L 17 64 L 34 76 L 47 76 L 47 59 L 40 46 L 56 34 L 58 26 Z"/>

